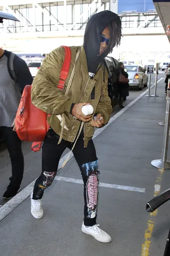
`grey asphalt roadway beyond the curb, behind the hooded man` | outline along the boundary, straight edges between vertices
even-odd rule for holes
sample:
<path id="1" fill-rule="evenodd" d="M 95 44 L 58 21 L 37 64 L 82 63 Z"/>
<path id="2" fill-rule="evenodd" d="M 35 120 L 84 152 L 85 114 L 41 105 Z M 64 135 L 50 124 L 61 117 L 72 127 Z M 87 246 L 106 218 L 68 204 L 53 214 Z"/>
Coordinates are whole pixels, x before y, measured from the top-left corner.
<path id="1" fill-rule="evenodd" d="M 158 79 L 164 77 L 165 72 L 160 71 Z M 155 75 L 152 76 L 151 85 L 155 83 Z M 145 92 L 148 87 L 144 87 L 142 91 L 137 89 L 130 89 L 130 95 L 124 101 L 123 105 L 128 106 L 130 102 L 136 99 L 141 93 Z M 153 92 L 153 89 L 152 89 Z M 111 116 L 114 116 L 120 111 L 118 106 L 115 106 Z M 28 186 L 33 180 L 35 180 L 41 169 L 41 151 L 38 153 L 31 152 L 31 142 L 22 142 L 22 150 L 25 161 L 25 169 L 22 181 L 22 189 Z M 66 149 L 62 156 L 67 154 L 69 149 Z M 11 176 L 11 162 L 6 149 L 5 143 L 0 143 L 0 205 L 5 204 L 7 201 L 2 198 L 4 191 L 9 183 L 8 179 Z M 30 166 L 31 161 L 31 166 Z M 37 168 L 37 166 L 39 166 Z M 37 170 L 38 169 L 38 170 Z"/>

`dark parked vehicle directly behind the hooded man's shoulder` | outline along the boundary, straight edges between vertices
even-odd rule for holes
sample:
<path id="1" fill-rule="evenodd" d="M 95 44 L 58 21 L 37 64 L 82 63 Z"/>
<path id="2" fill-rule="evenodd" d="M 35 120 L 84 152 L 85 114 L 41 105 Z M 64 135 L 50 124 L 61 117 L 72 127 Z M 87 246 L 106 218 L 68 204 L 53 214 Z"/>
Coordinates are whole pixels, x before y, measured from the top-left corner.
<path id="1" fill-rule="evenodd" d="M 118 98 L 118 84 L 116 66 L 118 61 L 113 57 L 106 57 L 104 59 L 105 67 L 108 71 L 108 95 L 111 98 L 112 106 L 117 104 Z"/>

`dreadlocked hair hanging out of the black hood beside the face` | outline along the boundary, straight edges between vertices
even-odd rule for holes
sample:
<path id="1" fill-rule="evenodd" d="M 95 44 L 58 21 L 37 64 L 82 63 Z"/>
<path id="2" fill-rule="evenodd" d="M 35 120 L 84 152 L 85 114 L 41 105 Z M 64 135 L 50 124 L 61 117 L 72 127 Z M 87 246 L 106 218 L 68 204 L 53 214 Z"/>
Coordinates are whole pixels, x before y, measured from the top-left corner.
<path id="1" fill-rule="evenodd" d="M 121 20 L 119 19 L 109 23 L 109 30 L 110 30 L 110 39 L 109 39 L 108 47 L 112 52 L 113 47 L 121 44 L 121 37 L 122 37 Z"/>

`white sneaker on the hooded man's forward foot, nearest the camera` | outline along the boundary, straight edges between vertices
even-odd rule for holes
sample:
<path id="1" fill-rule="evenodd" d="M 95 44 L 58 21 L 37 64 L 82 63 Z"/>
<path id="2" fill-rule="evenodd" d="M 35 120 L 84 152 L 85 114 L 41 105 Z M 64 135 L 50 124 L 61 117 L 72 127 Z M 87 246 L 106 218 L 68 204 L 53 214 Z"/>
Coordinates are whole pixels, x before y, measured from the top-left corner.
<path id="1" fill-rule="evenodd" d="M 112 241 L 112 238 L 102 229 L 98 227 L 99 225 L 94 225 L 92 227 L 87 227 L 82 223 L 81 231 L 84 233 L 93 236 L 97 241 L 102 243 L 109 243 Z"/>

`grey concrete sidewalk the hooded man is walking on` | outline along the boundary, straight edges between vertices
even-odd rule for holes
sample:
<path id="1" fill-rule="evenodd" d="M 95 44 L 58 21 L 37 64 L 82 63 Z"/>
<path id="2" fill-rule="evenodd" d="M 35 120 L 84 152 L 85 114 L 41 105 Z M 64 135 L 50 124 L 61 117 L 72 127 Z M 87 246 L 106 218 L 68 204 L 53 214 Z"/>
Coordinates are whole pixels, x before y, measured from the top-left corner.
<path id="1" fill-rule="evenodd" d="M 94 139 L 100 171 L 98 223 L 112 242 L 102 244 L 81 232 L 83 186 L 72 158 L 45 191 L 43 219 L 34 219 L 30 213 L 28 195 L 33 184 L 0 208 L 1 215 L 5 207 L 13 209 L 16 202 L 19 204 L 0 223 L 1 256 L 163 255 L 169 229 L 168 203 L 158 214 L 145 210 L 146 203 L 159 193 L 159 185 L 161 191 L 169 188 L 170 171 L 150 164 L 161 157 L 164 127 L 158 123 L 165 118 L 163 93 L 162 80 L 157 91 L 160 97 L 143 96 L 121 110 Z M 31 159 L 30 163 L 31 168 Z M 28 198 L 23 201 L 24 196 Z"/>

